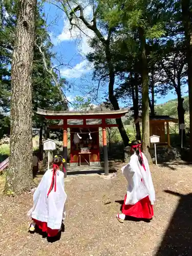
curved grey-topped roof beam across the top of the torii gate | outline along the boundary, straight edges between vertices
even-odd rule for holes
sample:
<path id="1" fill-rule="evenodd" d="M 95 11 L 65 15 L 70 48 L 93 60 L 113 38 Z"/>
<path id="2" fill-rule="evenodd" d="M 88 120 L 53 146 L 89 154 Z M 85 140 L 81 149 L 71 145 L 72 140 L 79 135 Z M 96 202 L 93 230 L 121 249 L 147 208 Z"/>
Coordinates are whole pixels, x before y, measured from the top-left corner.
<path id="1" fill-rule="evenodd" d="M 120 109 L 120 110 L 90 110 L 90 111 L 51 111 L 51 110 L 42 110 L 37 108 L 36 114 L 45 116 L 46 118 L 54 119 L 82 119 L 87 117 L 88 119 L 95 118 L 119 118 L 124 116 L 129 109 Z"/>

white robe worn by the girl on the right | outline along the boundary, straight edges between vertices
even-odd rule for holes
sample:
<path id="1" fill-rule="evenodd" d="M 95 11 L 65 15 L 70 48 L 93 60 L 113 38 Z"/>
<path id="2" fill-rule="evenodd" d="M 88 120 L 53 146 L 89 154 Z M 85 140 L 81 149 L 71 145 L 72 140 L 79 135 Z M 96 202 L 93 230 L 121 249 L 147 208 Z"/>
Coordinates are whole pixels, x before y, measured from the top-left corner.
<path id="1" fill-rule="evenodd" d="M 134 153 L 130 162 L 121 168 L 123 175 L 128 181 L 126 201 L 125 204 L 136 204 L 141 199 L 149 197 L 151 204 L 155 201 L 155 189 L 152 181 L 152 176 L 150 172 L 150 166 L 143 153 L 143 164 L 145 169 L 139 163 L 138 156 Z"/>

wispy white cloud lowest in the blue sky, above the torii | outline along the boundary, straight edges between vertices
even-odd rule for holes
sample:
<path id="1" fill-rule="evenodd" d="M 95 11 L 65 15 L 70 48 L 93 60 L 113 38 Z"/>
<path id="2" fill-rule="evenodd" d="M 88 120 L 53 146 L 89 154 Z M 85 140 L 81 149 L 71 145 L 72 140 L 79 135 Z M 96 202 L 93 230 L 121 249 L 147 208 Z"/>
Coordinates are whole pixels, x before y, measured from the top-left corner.
<path id="1" fill-rule="evenodd" d="M 61 76 L 64 76 L 66 78 L 79 78 L 82 75 L 90 72 L 91 70 L 92 70 L 92 65 L 90 65 L 89 61 L 83 60 L 72 69 L 68 69 L 68 68 L 61 69 L 60 74 Z"/>

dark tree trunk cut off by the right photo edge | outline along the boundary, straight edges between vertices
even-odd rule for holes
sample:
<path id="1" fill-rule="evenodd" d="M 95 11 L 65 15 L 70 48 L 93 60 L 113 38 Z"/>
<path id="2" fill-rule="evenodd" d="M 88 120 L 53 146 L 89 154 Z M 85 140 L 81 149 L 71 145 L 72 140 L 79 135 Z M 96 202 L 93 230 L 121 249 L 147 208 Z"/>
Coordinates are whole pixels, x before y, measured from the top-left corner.
<path id="1" fill-rule="evenodd" d="M 186 44 L 186 59 L 188 66 L 188 96 L 189 96 L 189 121 L 190 121 L 190 154 L 192 154 L 192 10 L 191 1 L 182 0 L 182 23 L 184 27 L 185 34 L 185 44 Z"/>

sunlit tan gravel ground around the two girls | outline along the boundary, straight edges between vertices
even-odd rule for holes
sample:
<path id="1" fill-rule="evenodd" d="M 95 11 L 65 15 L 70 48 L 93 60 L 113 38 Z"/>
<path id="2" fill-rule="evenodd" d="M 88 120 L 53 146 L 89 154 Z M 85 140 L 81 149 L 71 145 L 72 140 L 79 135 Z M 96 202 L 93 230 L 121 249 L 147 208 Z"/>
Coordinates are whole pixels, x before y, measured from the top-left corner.
<path id="1" fill-rule="evenodd" d="M 65 232 L 54 243 L 28 233 L 32 195 L 0 196 L 0 255 L 192 255 L 192 167 L 154 165 L 151 172 L 156 204 L 150 223 L 116 220 L 127 185 L 121 172 L 113 179 L 68 176 Z"/>

